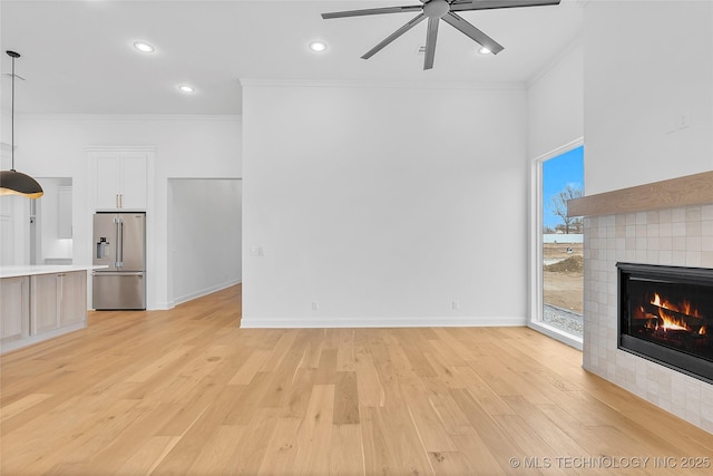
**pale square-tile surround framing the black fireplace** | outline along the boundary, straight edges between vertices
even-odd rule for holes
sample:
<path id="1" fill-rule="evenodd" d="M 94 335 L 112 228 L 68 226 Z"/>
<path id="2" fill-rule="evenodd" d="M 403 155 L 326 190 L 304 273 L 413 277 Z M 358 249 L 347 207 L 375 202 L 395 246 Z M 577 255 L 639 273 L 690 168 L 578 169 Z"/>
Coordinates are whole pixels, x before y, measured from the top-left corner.
<path id="1" fill-rule="evenodd" d="M 584 234 L 584 368 L 713 433 L 713 385 L 617 349 L 616 268 L 713 268 L 713 203 L 589 216 Z"/>

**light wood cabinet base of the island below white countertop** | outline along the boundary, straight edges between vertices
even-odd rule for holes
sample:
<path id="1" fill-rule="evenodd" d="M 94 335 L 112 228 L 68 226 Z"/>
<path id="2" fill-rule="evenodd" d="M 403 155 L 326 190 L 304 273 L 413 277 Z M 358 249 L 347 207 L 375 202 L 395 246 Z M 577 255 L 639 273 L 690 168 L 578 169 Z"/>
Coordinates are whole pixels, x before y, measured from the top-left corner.
<path id="1" fill-rule="evenodd" d="M 86 271 L 3 278 L 0 293 L 3 352 L 86 326 Z"/>

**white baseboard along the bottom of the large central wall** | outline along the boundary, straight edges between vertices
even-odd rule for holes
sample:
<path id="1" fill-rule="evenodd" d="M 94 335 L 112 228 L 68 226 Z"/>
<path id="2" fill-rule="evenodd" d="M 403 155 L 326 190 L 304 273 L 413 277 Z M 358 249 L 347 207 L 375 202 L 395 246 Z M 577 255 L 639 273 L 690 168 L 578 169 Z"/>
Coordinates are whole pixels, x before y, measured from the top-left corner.
<path id="1" fill-rule="evenodd" d="M 526 326 L 525 317 L 459 317 L 459 318 L 250 318 L 243 315 L 244 329 L 300 328 L 484 328 Z"/>

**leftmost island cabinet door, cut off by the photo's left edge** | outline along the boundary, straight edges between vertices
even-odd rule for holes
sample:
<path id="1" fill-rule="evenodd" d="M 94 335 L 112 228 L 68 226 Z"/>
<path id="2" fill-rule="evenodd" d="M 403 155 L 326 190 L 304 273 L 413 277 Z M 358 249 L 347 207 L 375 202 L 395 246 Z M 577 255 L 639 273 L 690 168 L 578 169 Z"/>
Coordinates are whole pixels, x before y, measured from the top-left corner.
<path id="1" fill-rule="evenodd" d="M 30 322 L 29 278 L 3 278 L 0 284 L 0 340 L 21 339 Z"/>

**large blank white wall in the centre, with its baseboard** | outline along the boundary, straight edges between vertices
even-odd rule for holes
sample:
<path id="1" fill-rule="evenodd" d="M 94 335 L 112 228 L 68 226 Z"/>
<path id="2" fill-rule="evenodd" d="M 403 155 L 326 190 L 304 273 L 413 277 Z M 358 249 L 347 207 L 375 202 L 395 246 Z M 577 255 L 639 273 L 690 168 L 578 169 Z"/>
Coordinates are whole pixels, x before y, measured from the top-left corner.
<path id="1" fill-rule="evenodd" d="M 525 323 L 524 89 L 243 101 L 244 327 Z"/>

